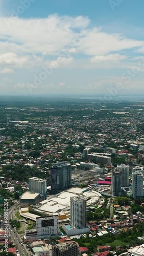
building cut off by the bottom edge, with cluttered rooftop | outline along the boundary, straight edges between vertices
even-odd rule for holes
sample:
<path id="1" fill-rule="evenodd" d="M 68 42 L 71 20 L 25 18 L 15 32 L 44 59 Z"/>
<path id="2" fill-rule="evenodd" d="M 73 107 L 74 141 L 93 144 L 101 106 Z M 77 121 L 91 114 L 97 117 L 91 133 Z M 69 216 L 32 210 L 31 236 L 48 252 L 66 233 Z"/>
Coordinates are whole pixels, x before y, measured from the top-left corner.
<path id="1" fill-rule="evenodd" d="M 73 241 L 53 245 L 50 256 L 78 256 L 78 245 Z"/>

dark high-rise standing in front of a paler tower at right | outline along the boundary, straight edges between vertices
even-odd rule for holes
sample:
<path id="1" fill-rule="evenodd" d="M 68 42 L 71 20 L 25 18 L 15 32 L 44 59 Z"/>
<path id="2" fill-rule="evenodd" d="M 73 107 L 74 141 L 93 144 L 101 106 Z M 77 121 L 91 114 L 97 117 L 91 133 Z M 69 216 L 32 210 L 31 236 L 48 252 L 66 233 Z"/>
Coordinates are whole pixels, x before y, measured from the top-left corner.
<path id="1" fill-rule="evenodd" d="M 111 192 L 113 197 L 119 197 L 122 194 L 122 171 L 115 169 L 112 171 Z"/>

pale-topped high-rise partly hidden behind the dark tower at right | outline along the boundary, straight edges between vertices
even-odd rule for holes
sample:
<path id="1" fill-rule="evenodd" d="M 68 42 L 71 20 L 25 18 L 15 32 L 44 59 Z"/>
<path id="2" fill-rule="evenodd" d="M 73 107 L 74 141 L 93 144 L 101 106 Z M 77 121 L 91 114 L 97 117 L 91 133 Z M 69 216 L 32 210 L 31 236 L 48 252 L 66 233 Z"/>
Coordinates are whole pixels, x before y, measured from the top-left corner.
<path id="1" fill-rule="evenodd" d="M 126 164 L 121 164 L 117 165 L 117 169 L 122 171 L 122 187 L 128 187 L 130 166 Z"/>

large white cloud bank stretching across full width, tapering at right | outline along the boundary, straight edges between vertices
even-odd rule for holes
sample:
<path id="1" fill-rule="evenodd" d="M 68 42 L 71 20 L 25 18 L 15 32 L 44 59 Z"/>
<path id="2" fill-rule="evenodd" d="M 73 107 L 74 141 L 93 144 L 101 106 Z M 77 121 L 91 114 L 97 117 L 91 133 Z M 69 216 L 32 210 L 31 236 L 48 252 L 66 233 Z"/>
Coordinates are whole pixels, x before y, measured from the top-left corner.
<path id="1" fill-rule="evenodd" d="M 89 19 L 50 15 L 47 18 L 0 18 L 0 54 L 8 51 L 24 54 L 57 55 L 80 52 L 95 56 L 143 47 L 144 43 L 121 34 L 108 34 L 102 28 L 91 28 Z"/>

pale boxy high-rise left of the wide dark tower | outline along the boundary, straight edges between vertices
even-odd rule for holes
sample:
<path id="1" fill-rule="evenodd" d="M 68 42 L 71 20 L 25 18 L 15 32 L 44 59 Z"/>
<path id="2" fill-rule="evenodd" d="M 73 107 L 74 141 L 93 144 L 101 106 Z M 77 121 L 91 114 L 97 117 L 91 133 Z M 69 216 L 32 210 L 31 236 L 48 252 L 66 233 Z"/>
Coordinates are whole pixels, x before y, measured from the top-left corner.
<path id="1" fill-rule="evenodd" d="M 34 193 L 39 193 L 41 200 L 47 197 L 47 185 L 46 180 L 33 177 L 29 179 L 29 191 Z"/>

